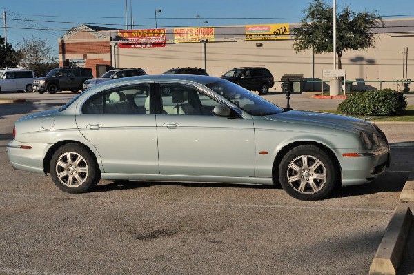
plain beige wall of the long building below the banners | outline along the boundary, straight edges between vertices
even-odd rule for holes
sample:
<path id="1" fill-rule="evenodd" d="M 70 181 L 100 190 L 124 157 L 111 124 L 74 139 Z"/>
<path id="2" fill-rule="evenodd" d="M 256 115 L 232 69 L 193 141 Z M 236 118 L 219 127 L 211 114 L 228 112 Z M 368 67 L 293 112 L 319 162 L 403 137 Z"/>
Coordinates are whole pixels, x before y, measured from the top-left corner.
<path id="1" fill-rule="evenodd" d="M 262 43 L 262 47 L 256 47 Z M 208 74 L 219 77 L 231 68 L 264 66 L 275 80 L 283 74 L 300 73 L 311 78 L 312 52 L 295 53 L 293 40 L 244 41 L 226 39 L 207 43 Z M 377 36 L 377 47 L 364 51 L 348 51 L 342 56 L 342 68 L 347 79 L 364 81 L 392 81 L 402 78 L 402 51 L 411 45 L 408 53 L 408 78 L 414 79 L 414 37 Z M 167 43 L 165 48 L 116 48 L 117 68 L 143 68 L 148 74 L 159 74 L 175 67 L 204 68 L 204 43 Z M 113 63 L 112 63 L 113 65 Z M 322 69 L 333 68 L 333 54 L 315 55 L 315 78 L 320 79 Z M 354 83 L 356 85 L 356 83 Z M 380 83 L 359 83 L 359 89 L 380 88 Z M 320 85 L 316 85 L 320 90 Z M 308 86 L 308 88 L 311 86 Z M 355 86 L 354 86 L 355 87 Z M 382 88 L 396 89 L 395 83 L 382 83 Z M 280 90 L 280 85 L 275 85 Z"/>

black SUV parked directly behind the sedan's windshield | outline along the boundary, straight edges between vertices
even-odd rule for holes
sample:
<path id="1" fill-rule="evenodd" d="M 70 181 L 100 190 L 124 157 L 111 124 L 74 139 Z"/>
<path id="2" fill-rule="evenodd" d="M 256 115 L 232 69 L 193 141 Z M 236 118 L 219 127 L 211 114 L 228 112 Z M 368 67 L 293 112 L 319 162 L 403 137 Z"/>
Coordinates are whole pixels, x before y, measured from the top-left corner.
<path id="1" fill-rule="evenodd" d="M 236 83 L 247 90 L 257 91 L 259 94 L 267 94 L 268 89 L 275 85 L 273 75 L 263 67 L 234 68 L 223 74 L 221 78 Z"/>

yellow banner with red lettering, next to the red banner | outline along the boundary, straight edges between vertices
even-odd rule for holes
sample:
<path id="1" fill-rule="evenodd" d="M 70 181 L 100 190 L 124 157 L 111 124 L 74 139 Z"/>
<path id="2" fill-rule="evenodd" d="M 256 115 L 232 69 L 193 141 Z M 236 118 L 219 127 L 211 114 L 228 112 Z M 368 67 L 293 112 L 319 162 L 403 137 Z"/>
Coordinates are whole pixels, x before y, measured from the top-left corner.
<path id="1" fill-rule="evenodd" d="M 201 39 L 214 41 L 214 27 L 174 29 L 174 42 L 176 43 L 199 42 Z"/>

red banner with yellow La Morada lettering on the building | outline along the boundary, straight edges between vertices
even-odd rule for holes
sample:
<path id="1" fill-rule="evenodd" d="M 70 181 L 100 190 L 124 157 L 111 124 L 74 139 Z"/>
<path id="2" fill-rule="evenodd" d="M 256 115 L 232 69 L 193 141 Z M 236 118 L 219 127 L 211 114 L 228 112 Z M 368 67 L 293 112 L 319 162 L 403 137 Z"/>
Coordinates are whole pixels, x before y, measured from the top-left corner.
<path id="1" fill-rule="evenodd" d="M 166 29 L 119 30 L 119 48 L 154 48 L 166 46 Z"/>

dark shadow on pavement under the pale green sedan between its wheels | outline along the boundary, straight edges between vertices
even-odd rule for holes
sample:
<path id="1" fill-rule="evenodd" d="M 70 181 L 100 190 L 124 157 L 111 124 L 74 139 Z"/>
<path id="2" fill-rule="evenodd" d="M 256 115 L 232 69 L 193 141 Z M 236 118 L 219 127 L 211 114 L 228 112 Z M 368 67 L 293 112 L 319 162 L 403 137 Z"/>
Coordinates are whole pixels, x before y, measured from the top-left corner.
<path id="1" fill-rule="evenodd" d="M 158 181 L 111 181 L 110 183 L 97 185 L 92 192 L 108 192 L 114 190 L 130 190 L 151 186 L 184 186 L 184 187 L 211 187 L 211 188 L 251 188 L 251 189 L 275 189 L 273 185 L 257 185 L 242 183 L 183 183 L 183 182 L 158 182 Z"/>

